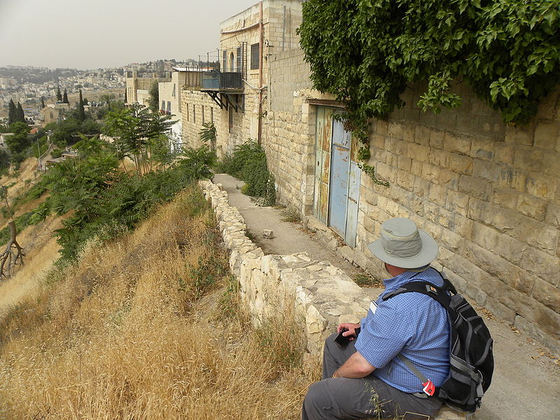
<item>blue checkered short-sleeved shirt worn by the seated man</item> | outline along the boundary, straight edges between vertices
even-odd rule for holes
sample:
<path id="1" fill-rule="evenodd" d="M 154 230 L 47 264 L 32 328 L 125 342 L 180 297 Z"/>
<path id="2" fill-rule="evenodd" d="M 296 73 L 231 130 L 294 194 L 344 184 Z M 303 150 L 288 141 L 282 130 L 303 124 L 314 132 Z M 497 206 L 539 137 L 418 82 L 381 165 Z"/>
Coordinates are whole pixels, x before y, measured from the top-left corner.
<path id="1" fill-rule="evenodd" d="M 433 268 L 384 280 L 385 291 L 372 302 L 356 339 L 356 350 L 376 367 L 374 376 L 407 393 L 421 392 L 422 384 L 395 357 L 398 353 L 409 358 L 435 386 L 441 386 L 449 373 L 449 325 L 444 307 L 432 297 L 414 292 L 381 300 L 403 284 L 419 280 L 443 285 Z"/>

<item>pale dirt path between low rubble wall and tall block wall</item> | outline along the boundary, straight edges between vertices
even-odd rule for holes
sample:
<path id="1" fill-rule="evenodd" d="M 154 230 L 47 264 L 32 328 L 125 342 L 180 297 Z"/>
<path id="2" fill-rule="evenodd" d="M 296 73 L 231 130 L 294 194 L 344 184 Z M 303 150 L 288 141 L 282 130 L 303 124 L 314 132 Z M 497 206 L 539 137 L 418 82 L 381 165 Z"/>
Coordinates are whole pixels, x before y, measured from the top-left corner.
<path id="1" fill-rule="evenodd" d="M 216 174 L 214 183 L 221 183 L 245 219 L 247 229 L 265 253 L 290 254 L 307 251 L 311 258 L 329 261 L 353 276 L 360 269 L 353 267 L 327 246 L 313 239 L 294 223 L 282 221 L 279 209 L 258 207 L 240 191 L 243 181 L 226 174 Z M 274 231 L 274 239 L 264 239 L 262 230 Z M 364 288 L 370 297 L 381 293 L 379 288 Z M 476 420 L 556 420 L 560 419 L 560 364 L 547 354 L 535 340 L 515 332 L 503 321 L 485 319 L 494 339 L 495 370 L 492 384 L 484 395 Z M 558 355 L 555 355 L 558 356 Z"/>

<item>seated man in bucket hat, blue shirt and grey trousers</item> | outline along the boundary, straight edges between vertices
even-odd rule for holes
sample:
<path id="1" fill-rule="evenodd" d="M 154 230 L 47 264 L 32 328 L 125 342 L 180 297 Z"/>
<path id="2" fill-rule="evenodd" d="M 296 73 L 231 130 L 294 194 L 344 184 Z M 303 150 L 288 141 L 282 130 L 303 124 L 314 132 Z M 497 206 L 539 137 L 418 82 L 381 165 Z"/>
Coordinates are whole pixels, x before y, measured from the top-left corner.
<path id="1" fill-rule="evenodd" d="M 449 373 L 447 311 L 421 293 L 381 299 L 411 281 L 442 286 L 442 277 L 430 267 L 437 244 L 409 219 L 393 218 L 381 225 L 380 239 L 368 248 L 392 278 L 384 280 L 384 293 L 370 304 L 361 323 L 338 325 L 337 332 L 348 330 L 343 335 L 350 337 L 349 344 L 338 346 L 333 341 L 336 334 L 325 341 L 323 380 L 309 388 L 303 420 L 428 419 L 442 405 L 423 391 L 424 385 L 398 354 L 440 386 Z"/>

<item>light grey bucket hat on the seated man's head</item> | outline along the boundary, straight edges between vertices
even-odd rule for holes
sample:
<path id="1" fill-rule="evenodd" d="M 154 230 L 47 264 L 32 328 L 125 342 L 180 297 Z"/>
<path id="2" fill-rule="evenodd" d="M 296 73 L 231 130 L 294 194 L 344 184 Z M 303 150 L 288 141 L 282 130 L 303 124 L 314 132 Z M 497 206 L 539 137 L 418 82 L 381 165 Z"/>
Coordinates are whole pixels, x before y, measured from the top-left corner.
<path id="1" fill-rule="evenodd" d="M 430 264 L 437 256 L 437 244 L 407 218 L 392 218 L 381 224 L 381 237 L 367 246 L 379 260 L 401 268 Z"/>

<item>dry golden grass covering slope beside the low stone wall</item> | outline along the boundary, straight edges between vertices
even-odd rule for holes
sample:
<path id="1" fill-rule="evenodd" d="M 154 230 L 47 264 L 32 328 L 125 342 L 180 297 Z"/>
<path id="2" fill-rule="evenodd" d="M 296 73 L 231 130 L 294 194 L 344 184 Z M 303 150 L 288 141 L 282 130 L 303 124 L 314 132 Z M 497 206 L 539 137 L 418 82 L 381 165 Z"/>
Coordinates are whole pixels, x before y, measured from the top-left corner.
<path id="1" fill-rule="evenodd" d="M 298 419 L 293 321 L 251 329 L 220 238 L 190 187 L 52 272 L 0 322 L 0 419 Z"/>

